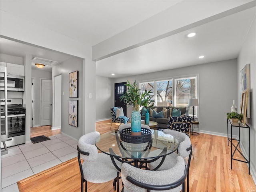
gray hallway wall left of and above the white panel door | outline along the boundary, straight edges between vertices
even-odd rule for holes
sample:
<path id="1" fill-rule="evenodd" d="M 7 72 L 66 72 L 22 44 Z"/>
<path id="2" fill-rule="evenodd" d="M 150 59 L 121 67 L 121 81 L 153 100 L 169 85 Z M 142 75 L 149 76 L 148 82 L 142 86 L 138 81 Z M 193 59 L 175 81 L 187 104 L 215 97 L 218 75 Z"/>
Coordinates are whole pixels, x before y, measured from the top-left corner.
<path id="1" fill-rule="evenodd" d="M 52 72 L 32 69 L 31 77 L 34 78 L 34 124 L 33 127 L 41 126 L 41 80 L 52 80 Z"/>

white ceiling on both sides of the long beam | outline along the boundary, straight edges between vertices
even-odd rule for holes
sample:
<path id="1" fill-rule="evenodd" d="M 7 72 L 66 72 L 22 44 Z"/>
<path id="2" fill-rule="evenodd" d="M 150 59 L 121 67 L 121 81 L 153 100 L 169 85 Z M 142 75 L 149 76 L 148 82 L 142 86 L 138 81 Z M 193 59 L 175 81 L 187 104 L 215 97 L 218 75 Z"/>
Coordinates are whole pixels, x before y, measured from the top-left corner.
<path id="1" fill-rule="evenodd" d="M 1 12 L 95 45 L 179 2 L 1 0 L 0 8 Z M 99 60 L 96 62 L 96 74 L 118 78 L 237 58 L 255 12 L 253 7 Z M 187 38 L 189 32 L 197 35 Z M 1 53 L 20 57 L 30 53 L 59 63 L 71 57 L 4 38 L 0 39 L 0 46 Z M 205 55 L 205 58 L 198 59 L 200 55 Z M 46 66 L 44 69 L 51 68 Z M 116 75 L 111 76 L 112 73 Z"/>

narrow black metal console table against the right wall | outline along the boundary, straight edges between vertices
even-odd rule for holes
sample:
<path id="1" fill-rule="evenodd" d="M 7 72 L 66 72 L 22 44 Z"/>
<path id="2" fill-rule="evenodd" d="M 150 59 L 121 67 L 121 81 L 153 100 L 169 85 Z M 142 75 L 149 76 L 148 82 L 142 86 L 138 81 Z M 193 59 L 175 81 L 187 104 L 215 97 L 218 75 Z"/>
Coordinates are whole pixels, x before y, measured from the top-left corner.
<path id="1" fill-rule="evenodd" d="M 245 126 L 244 126 L 242 123 L 232 122 L 232 120 L 230 120 L 230 119 L 227 120 L 227 128 L 228 128 L 228 124 L 230 125 L 230 130 L 231 130 L 230 138 L 228 137 L 228 145 L 229 145 L 229 142 L 231 143 L 231 146 L 230 146 L 230 148 L 231 148 L 231 152 L 230 152 L 230 155 L 231 155 L 231 169 L 232 169 L 232 160 L 248 163 L 248 165 L 249 165 L 249 174 L 250 174 L 250 127 L 247 124 L 245 124 Z M 232 138 L 233 128 L 238 128 L 239 139 Z M 248 139 L 249 139 L 248 159 L 242 154 L 241 150 L 238 149 L 238 145 L 239 145 L 239 148 L 240 148 L 240 128 L 248 129 L 248 131 L 249 131 L 248 132 Z M 237 141 L 237 144 L 234 144 L 233 140 Z M 233 153 L 232 153 L 232 146 L 234 146 L 234 149 L 235 149 Z M 234 154 L 235 154 L 236 151 L 238 151 L 242 155 L 244 160 L 239 160 L 239 159 L 234 158 Z"/>

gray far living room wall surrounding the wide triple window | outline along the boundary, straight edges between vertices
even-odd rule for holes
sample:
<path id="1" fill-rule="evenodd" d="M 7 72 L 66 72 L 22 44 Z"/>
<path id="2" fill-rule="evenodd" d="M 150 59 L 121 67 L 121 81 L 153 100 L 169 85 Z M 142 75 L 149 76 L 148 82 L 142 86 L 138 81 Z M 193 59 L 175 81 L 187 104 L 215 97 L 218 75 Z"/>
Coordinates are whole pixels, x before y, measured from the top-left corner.
<path id="1" fill-rule="evenodd" d="M 200 121 L 200 132 L 227 136 L 226 113 L 231 110 L 232 100 L 237 100 L 236 59 L 117 78 L 114 83 L 126 80 L 139 82 L 191 74 L 198 74 L 198 120 Z M 114 91 L 112 94 L 114 99 Z M 129 117 L 131 110 L 131 107 L 127 110 L 127 116 Z"/>

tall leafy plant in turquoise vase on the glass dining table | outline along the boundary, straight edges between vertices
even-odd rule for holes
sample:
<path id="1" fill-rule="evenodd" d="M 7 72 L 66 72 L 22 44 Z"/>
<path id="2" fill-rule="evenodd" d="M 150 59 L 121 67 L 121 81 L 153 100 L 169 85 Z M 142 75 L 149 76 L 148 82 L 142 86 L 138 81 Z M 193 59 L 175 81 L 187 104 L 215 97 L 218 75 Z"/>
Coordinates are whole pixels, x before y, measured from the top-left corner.
<path id="1" fill-rule="evenodd" d="M 131 129 L 133 135 L 140 135 L 141 134 L 141 117 L 140 117 L 140 107 L 150 107 L 154 105 L 154 100 L 152 100 L 153 95 L 151 90 L 145 90 L 142 92 L 137 84 L 136 81 L 133 84 L 127 80 L 126 85 L 126 92 L 120 96 L 120 100 L 126 103 L 126 106 L 132 106 L 133 111 L 131 115 Z"/>

